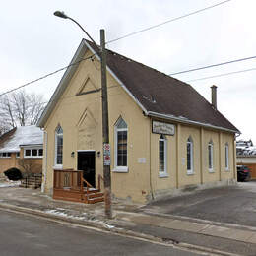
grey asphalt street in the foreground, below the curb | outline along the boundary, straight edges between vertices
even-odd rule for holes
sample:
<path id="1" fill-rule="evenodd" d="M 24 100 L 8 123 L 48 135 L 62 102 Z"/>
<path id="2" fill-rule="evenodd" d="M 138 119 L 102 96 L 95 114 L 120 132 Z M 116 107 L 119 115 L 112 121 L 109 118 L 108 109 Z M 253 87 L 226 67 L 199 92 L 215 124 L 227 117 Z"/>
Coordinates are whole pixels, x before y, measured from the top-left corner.
<path id="1" fill-rule="evenodd" d="M 148 241 L 0 211 L 1 256 L 198 255 Z"/>

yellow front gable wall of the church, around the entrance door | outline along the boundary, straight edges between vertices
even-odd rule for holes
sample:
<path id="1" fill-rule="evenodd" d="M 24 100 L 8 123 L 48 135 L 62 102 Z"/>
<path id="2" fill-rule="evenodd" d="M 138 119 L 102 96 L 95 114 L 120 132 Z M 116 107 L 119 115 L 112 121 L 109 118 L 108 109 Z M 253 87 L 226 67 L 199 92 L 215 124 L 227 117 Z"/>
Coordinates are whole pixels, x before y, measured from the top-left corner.
<path id="1" fill-rule="evenodd" d="M 86 55 L 87 56 L 87 55 Z M 86 57 L 85 56 L 85 57 Z M 82 62 L 72 78 L 70 85 L 61 96 L 57 106 L 48 119 L 47 132 L 47 176 L 45 189 L 53 186 L 53 167 L 55 151 L 55 129 L 58 124 L 63 129 L 63 168 L 77 169 L 77 151 L 100 151 L 96 157 L 96 176 L 102 173 L 102 124 L 101 92 L 76 96 L 81 91 L 85 78 L 89 78 L 89 89 L 92 84 L 100 87 L 99 63 Z M 86 80 L 87 80 L 86 79 Z M 114 156 L 114 125 L 121 116 L 128 125 L 128 172 L 114 170 L 114 159 L 111 160 L 112 192 L 121 198 L 133 198 L 142 201 L 149 193 L 149 136 L 150 120 L 144 117 L 142 110 L 130 96 L 117 84 L 114 78 L 107 75 L 109 101 L 109 139 L 111 156 Z M 87 91 L 85 89 L 85 91 Z M 90 91 L 90 90 L 89 90 Z M 44 144 L 44 152 L 46 150 Z M 75 152 L 75 157 L 71 157 Z M 145 158 L 146 163 L 139 163 L 138 158 Z"/>

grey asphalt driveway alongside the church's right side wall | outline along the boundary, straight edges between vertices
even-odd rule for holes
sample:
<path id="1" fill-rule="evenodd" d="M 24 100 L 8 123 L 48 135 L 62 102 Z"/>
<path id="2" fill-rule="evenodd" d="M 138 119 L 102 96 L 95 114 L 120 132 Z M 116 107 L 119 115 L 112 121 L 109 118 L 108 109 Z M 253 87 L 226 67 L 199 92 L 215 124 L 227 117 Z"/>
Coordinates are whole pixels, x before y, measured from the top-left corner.
<path id="1" fill-rule="evenodd" d="M 168 197 L 144 208 L 156 213 L 256 227 L 256 182 Z"/>

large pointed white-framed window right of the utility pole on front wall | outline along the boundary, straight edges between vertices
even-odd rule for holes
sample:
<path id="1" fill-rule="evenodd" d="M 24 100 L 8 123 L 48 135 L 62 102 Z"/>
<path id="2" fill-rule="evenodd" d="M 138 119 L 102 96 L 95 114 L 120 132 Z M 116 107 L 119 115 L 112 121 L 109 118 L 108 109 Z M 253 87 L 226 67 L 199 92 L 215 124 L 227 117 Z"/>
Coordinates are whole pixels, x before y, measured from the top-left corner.
<path id="1" fill-rule="evenodd" d="M 127 139 L 128 126 L 120 117 L 115 124 L 114 171 L 128 171 Z"/>

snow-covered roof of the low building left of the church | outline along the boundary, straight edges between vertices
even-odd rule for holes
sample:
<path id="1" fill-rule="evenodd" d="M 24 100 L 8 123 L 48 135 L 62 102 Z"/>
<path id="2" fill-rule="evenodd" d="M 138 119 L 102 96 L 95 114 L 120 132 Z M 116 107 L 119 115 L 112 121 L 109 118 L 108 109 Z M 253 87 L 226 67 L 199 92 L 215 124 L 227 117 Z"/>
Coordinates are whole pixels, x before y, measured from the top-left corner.
<path id="1" fill-rule="evenodd" d="M 0 152 L 20 152 L 20 146 L 42 145 L 43 132 L 35 125 L 16 127 L 0 137 Z"/>

